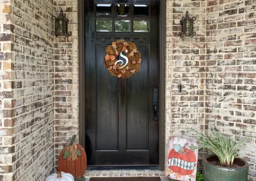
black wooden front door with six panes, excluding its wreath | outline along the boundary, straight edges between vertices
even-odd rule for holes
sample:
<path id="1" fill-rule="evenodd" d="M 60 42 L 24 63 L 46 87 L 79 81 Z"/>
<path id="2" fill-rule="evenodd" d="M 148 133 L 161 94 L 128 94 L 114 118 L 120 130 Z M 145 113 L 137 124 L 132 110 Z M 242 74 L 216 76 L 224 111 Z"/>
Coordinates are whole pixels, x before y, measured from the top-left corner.
<path id="1" fill-rule="evenodd" d="M 88 166 L 159 163 L 159 120 L 153 110 L 159 88 L 159 1 L 135 2 L 85 3 Z M 140 71 L 127 79 L 104 67 L 105 48 L 120 39 L 134 42 L 141 53 Z"/>

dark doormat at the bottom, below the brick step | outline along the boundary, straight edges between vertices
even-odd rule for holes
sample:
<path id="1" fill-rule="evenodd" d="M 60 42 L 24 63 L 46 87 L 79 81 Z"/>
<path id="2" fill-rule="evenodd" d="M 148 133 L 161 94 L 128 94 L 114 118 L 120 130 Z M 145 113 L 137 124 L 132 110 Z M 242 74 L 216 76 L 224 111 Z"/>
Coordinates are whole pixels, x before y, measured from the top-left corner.
<path id="1" fill-rule="evenodd" d="M 161 181 L 160 177 L 91 177 L 90 181 Z"/>

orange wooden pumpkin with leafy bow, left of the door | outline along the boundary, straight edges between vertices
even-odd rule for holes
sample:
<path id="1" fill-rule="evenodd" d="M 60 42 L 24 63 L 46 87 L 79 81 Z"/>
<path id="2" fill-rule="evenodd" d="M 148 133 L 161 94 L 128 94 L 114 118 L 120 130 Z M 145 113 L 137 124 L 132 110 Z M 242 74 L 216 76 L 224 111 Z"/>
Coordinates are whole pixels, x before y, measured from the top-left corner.
<path id="1" fill-rule="evenodd" d="M 84 148 L 75 144 L 76 135 L 72 136 L 70 144 L 63 148 L 59 157 L 59 171 L 71 173 L 75 179 L 82 178 L 86 171 L 87 159 Z"/>

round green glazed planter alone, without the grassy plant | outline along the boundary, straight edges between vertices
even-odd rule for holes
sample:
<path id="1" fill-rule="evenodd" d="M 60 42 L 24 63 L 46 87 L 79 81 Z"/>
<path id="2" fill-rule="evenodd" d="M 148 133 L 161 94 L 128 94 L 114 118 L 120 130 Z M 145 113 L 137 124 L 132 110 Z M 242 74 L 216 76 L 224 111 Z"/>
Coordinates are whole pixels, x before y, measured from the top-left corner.
<path id="1" fill-rule="evenodd" d="M 209 161 L 218 159 L 216 156 L 206 156 L 203 159 L 204 181 L 247 181 L 249 165 L 244 159 L 236 158 L 234 163 L 241 166 L 240 168 L 227 168 L 218 166 Z"/>

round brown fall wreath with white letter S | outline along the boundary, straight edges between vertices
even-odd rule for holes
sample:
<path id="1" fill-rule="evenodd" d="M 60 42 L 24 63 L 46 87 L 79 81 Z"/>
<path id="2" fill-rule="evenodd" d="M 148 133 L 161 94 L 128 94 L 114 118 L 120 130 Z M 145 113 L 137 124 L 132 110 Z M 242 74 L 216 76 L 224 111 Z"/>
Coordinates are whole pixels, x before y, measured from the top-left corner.
<path id="1" fill-rule="evenodd" d="M 124 52 L 124 54 L 123 54 Z M 119 56 L 126 62 L 118 60 Z M 132 42 L 118 40 L 106 47 L 104 65 L 112 76 L 129 78 L 140 70 L 141 54 Z"/>

